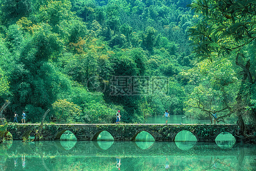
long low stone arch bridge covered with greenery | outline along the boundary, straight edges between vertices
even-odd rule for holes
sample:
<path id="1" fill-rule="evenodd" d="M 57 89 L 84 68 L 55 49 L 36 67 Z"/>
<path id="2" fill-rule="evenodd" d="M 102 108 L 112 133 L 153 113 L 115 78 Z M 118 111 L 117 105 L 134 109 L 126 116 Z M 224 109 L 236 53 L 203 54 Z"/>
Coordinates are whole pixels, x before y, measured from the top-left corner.
<path id="1" fill-rule="evenodd" d="M 14 140 L 34 135 L 40 124 L 9 124 L 7 131 Z M 235 136 L 238 125 L 235 124 L 44 124 L 41 140 L 58 140 L 66 131 L 71 131 L 77 140 L 97 140 L 102 131 L 109 132 L 115 141 L 133 141 L 136 136 L 145 131 L 150 133 L 155 141 L 174 141 L 180 131 L 190 131 L 197 141 L 215 141 L 222 132 L 229 132 Z"/>

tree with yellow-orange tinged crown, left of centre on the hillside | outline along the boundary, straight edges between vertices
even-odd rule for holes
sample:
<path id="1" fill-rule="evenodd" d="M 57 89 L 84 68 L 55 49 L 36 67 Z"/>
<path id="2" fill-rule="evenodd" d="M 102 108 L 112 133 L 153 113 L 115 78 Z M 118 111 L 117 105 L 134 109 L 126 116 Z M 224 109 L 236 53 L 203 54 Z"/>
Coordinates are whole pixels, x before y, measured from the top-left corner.
<path id="1" fill-rule="evenodd" d="M 74 80 L 86 86 L 89 79 L 99 78 L 99 75 L 103 79 L 108 78 L 108 51 L 100 39 L 91 35 L 79 38 L 77 43 L 70 43 L 70 51 L 74 55 L 64 56 L 64 72 Z"/>

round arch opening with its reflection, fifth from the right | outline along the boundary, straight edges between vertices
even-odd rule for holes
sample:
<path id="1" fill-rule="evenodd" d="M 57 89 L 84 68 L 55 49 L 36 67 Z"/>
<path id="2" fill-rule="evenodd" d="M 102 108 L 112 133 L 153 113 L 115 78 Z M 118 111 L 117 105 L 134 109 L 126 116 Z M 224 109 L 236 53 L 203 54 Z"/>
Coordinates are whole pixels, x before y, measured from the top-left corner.
<path id="1" fill-rule="evenodd" d="M 71 131 L 65 131 L 60 137 L 60 144 L 64 149 L 70 150 L 76 144 L 76 136 Z"/>

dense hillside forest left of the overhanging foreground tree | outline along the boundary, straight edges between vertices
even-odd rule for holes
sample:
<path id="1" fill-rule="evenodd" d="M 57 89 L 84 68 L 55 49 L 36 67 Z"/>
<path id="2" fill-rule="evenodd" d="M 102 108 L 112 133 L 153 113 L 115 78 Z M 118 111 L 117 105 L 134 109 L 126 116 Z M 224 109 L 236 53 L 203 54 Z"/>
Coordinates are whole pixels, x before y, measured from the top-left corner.
<path id="1" fill-rule="evenodd" d="M 39 122 L 48 108 L 60 123 L 113 123 L 117 110 L 127 123 L 165 109 L 183 113 L 186 85 L 178 75 L 193 66 L 191 1 L 0 2 L 7 120 L 26 111 L 28 122 Z M 139 91 L 118 93 L 116 78 Z"/>

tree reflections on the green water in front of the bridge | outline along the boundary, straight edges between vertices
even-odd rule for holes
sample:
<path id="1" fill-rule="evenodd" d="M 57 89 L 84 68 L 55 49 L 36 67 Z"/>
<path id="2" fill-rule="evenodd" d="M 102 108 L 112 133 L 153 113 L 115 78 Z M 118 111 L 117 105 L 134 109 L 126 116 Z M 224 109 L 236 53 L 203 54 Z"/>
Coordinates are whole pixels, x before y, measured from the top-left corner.
<path id="1" fill-rule="evenodd" d="M 146 150 L 140 149 L 136 142 L 113 142 L 108 149 L 101 149 L 95 144 L 97 141 L 78 141 L 73 148 L 66 150 L 59 141 L 14 141 L 10 149 L 0 148 L 1 154 L 6 156 L 1 160 L 2 168 L 13 167 L 15 155 L 19 157 L 19 162 L 21 156 L 26 155 L 27 169 L 33 165 L 44 170 L 113 170 L 116 169 L 116 156 L 121 158 L 122 170 L 164 170 L 166 158 L 172 170 L 255 169 L 255 146 L 235 145 L 233 148 L 221 149 L 214 143 L 197 143 L 184 151 L 178 149 L 174 142 L 153 143 Z"/>

